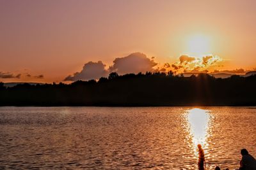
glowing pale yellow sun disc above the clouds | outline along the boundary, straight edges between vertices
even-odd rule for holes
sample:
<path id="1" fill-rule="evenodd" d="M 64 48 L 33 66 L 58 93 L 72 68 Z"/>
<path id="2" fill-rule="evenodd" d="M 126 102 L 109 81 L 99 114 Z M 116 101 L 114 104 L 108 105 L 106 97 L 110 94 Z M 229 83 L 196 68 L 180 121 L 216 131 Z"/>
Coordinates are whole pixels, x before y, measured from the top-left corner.
<path id="1" fill-rule="evenodd" d="M 203 57 L 211 53 L 211 39 L 204 34 L 193 34 L 187 39 L 186 53 L 195 57 Z"/>

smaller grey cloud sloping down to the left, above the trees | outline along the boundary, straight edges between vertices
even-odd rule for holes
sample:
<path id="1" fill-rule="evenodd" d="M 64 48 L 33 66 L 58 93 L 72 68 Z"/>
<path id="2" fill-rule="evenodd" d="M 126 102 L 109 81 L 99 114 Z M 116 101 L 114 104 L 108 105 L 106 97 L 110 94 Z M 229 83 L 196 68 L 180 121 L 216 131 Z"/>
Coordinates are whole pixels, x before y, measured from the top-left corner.
<path id="1" fill-rule="evenodd" d="M 106 71 L 105 66 L 106 65 L 103 64 L 102 61 L 87 62 L 84 64 L 82 71 L 74 73 L 73 76 L 67 76 L 64 81 L 99 79 L 108 75 L 108 71 Z"/>

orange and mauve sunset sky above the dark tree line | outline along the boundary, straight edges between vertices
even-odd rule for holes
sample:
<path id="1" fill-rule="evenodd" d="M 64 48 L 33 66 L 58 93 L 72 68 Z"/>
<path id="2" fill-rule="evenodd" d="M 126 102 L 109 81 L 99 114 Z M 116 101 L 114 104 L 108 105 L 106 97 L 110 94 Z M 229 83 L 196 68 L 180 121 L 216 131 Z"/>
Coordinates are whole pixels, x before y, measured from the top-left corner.
<path id="1" fill-rule="evenodd" d="M 0 81 L 256 67 L 256 1 L 0 0 Z"/>

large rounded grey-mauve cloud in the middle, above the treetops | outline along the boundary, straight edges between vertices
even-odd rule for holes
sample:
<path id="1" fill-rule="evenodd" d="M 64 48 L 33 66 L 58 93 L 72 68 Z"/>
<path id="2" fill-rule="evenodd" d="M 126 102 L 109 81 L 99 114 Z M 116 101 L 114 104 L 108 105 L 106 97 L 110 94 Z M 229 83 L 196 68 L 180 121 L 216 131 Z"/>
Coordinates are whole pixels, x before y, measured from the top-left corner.
<path id="1" fill-rule="evenodd" d="M 109 67 L 110 72 L 118 74 L 127 73 L 145 73 L 147 71 L 154 71 L 154 66 L 157 65 L 154 60 L 150 60 L 143 53 L 131 53 L 126 57 L 116 58 L 113 66 Z"/>

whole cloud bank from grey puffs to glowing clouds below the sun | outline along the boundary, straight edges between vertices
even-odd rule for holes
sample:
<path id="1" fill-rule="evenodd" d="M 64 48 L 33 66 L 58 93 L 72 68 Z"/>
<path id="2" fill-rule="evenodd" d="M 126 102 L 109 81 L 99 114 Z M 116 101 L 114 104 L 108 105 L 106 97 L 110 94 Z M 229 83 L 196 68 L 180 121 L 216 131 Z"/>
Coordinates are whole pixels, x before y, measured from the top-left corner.
<path id="1" fill-rule="evenodd" d="M 84 64 L 84 67 L 80 72 L 67 76 L 64 81 L 99 79 L 108 76 L 108 74 L 112 72 L 118 74 L 137 74 L 140 72 L 146 73 L 147 71 L 209 73 L 209 70 L 212 70 L 213 66 L 220 64 L 220 61 L 222 61 L 222 59 L 216 55 L 206 55 L 202 58 L 181 55 L 179 61 L 174 62 L 173 64 L 164 63 L 163 66 L 159 66 L 159 64 L 154 62 L 154 59 L 155 57 L 148 58 L 144 53 L 131 53 L 126 57 L 118 57 L 113 60 L 113 65 L 109 66 L 108 69 L 105 69 L 106 65 L 101 61 L 90 61 Z"/>

